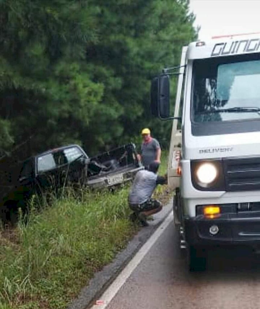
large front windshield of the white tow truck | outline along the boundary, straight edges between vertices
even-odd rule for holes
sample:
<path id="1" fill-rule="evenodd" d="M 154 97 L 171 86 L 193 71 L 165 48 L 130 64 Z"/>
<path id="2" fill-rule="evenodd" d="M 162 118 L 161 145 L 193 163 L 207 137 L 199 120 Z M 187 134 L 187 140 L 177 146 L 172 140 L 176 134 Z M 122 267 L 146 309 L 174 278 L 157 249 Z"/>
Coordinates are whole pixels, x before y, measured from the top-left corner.
<path id="1" fill-rule="evenodd" d="M 257 56 L 196 60 L 193 82 L 193 121 L 260 119 L 260 60 Z"/>

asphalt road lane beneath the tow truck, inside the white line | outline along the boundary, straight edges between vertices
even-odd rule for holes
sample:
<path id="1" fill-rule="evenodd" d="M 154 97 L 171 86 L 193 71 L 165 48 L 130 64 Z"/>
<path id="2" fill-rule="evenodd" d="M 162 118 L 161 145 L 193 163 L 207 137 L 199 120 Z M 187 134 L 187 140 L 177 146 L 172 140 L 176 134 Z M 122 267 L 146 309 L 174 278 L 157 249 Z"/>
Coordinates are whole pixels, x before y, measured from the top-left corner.
<path id="1" fill-rule="evenodd" d="M 260 308 L 260 256 L 215 248 L 207 269 L 190 273 L 177 243 L 170 222 L 106 309 Z"/>

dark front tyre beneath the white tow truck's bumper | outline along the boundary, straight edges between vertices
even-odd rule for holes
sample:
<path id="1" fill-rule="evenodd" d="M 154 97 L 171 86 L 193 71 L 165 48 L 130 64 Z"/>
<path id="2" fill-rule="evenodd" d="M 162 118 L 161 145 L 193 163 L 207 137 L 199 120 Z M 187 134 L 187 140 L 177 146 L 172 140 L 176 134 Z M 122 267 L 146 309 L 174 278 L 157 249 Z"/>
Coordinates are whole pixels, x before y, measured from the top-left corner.
<path id="1" fill-rule="evenodd" d="M 188 270 L 190 272 L 204 271 L 206 269 L 207 262 L 205 249 L 188 246 L 187 262 Z"/>

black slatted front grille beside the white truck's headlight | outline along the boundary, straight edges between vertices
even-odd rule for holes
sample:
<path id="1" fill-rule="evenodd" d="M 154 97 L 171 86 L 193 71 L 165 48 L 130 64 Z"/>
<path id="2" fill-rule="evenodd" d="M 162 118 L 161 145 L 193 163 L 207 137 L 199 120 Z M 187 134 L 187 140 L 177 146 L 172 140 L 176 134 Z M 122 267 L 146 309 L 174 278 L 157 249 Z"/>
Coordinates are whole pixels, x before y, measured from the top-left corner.
<path id="1" fill-rule="evenodd" d="M 260 189 L 260 158 L 224 159 L 226 191 Z"/>

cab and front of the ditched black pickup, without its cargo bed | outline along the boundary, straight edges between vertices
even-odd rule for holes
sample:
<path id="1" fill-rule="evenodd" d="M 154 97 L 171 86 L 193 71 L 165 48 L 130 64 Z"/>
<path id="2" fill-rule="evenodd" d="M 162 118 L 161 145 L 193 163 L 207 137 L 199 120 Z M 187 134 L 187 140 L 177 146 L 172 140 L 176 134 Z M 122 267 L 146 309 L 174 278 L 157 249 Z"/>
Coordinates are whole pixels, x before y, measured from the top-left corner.
<path id="1" fill-rule="evenodd" d="M 0 177 L 0 210 L 2 221 L 13 221 L 17 210 L 26 209 L 33 194 L 59 193 L 70 183 L 83 184 L 87 177 L 88 156 L 78 145 L 48 150 L 23 161 L 2 165 Z M 13 218 L 14 217 L 14 218 Z"/>

